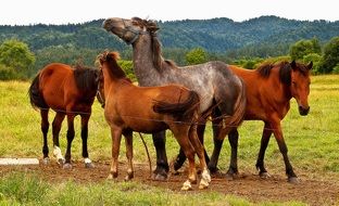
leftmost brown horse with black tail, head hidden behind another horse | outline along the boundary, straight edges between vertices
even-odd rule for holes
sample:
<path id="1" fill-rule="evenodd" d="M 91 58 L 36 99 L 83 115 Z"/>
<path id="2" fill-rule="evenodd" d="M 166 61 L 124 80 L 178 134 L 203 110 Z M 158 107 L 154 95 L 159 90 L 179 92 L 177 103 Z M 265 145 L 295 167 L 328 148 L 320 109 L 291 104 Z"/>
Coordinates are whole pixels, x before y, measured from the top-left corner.
<path id="1" fill-rule="evenodd" d="M 77 66 L 72 68 L 68 65 L 52 63 L 42 68 L 29 87 L 30 104 L 40 110 L 41 131 L 43 136 L 43 163 L 49 162 L 47 133 L 49 129 L 48 113 L 52 108 L 56 114 L 52 124 L 53 133 L 53 154 L 63 168 L 72 168 L 71 165 L 71 144 L 74 139 L 74 118 L 76 115 L 81 117 L 81 139 L 83 157 L 85 166 L 92 167 L 88 158 L 87 138 L 88 120 L 91 115 L 99 82 L 100 72 L 93 68 Z M 67 116 L 67 150 L 65 159 L 62 156 L 59 145 L 59 132 L 64 117 Z"/>

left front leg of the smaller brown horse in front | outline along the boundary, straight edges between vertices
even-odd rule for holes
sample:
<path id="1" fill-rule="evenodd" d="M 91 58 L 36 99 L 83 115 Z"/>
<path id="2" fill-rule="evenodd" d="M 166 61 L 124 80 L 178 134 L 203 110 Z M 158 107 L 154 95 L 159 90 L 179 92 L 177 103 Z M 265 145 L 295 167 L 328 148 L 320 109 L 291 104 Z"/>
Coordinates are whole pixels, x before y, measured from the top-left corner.
<path id="1" fill-rule="evenodd" d="M 122 130 L 120 128 L 111 128 L 111 137 L 112 137 L 112 162 L 111 162 L 111 170 L 108 179 L 116 179 L 118 169 L 117 169 L 117 158 L 120 153 L 120 145 L 122 140 Z"/>

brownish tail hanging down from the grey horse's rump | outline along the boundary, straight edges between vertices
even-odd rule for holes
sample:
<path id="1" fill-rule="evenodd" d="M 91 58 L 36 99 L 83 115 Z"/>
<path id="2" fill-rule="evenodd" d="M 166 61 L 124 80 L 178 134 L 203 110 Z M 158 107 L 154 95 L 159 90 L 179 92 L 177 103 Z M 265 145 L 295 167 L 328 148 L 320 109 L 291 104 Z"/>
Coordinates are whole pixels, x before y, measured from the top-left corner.
<path id="1" fill-rule="evenodd" d="M 247 95 L 246 95 L 246 86 L 243 83 L 243 80 L 241 78 L 239 78 L 240 82 L 241 82 L 241 87 L 240 87 L 240 94 L 237 98 L 237 101 L 235 103 L 235 107 L 234 107 L 234 114 L 228 117 L 225 118 L 223 121 L 223 129 L 221 130 L 221 133 L 218 136 L 218 138 L 224 138 L 231 129 L 235 129 L 237 127 L 239 127 L 243 120 L 243 115 L 246 112 L 246 105 L 247 105 Z"/>

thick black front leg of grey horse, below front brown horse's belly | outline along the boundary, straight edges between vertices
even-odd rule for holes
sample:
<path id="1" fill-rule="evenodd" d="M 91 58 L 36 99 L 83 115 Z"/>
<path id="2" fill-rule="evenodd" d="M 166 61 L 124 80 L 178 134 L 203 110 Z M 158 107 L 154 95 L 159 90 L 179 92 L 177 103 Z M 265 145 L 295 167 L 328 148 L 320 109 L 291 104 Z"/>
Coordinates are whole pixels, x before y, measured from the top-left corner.
<path id="1" fill-rule="evenodd" d="M 156 168 L 153 171 L 153 179 L 164 181 L 167 179 L 170 170 L 166 155 L 166 131 L 152 133 L 152 138 L 156 152 Z"/>

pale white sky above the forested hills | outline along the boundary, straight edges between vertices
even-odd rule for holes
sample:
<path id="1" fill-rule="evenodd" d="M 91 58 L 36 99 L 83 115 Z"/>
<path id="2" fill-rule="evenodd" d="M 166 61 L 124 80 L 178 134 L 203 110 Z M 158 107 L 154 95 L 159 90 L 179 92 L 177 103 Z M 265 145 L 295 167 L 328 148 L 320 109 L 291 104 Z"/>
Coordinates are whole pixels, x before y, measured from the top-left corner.
<path id="1" fill-rule="evenodd" d="M 276 15 L 338 21 L 338 0 L 1 0 L 0 25 L 67 24 L 133 16 L 162 21 L 228 17 L 241 22 Z"/>

